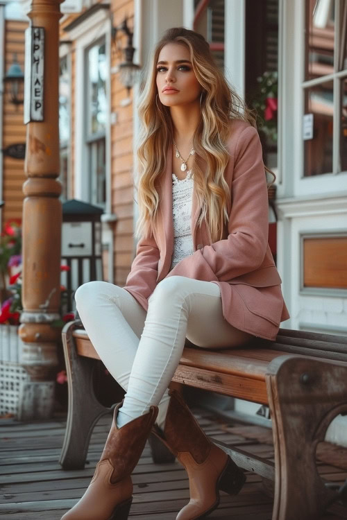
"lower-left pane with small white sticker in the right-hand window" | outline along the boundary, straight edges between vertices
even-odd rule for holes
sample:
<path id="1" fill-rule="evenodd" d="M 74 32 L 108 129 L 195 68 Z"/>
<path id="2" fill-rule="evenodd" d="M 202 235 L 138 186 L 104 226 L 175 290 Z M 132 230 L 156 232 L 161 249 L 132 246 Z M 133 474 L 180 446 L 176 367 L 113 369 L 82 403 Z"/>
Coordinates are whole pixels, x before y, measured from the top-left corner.
<path id="1" fill-rule="evenodd" d="M 305 90 L 305 114 L 313 114 L 313 138 L 305 144 L 305 177 L 332 172 L 332 81 Z"/>

